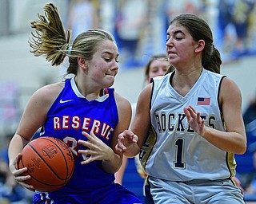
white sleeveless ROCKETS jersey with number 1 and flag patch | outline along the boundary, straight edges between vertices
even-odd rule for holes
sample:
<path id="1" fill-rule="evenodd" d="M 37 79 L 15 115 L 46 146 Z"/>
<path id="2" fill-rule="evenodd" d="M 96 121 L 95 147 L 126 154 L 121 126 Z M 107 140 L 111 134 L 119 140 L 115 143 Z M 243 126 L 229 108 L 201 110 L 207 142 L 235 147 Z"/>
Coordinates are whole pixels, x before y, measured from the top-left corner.
<path id="1" fill-rule="evenodd" d="M 183 111 L 192 105 L 201 113 L 206 126 L 226 131 L 218 105 L 223 77 L 203 69 L 184 97 L 170 85 L 171 73 L 154 77 L 150 103 L 152 127 L 140 152 L 148 175 L 181 182 L 234 176 L 234 154 L 222 151 L 194 132 Z"/>

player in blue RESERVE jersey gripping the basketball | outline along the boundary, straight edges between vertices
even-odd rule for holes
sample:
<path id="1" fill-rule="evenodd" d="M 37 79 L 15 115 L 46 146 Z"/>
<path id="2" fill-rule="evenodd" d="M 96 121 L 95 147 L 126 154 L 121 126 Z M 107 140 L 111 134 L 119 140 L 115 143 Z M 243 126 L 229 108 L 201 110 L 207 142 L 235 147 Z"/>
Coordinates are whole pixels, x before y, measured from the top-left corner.
<path id="1" fill-rule="evenodd" d="M 29 190 L 27 168 L 17 170 L 22 148 L 41 128 L 40 136 L 62 139 L 74 154 L 74 175 L 66 186 L 54 192 L 35 192 L 33 203 L 113 204 L 142 203 L 125 187 L 114 183 L 114 173 L 122 165 L 122 152 L 115 150 L 118 134 L 130 124 L 131 108 L 109 88 L 118 73 L 118 47 L 110 33 L 87 30 L 70 45 L 58 10 L 44 7 L 45 16 L 31 23 L 36 30 L 30 40 L 35 56 L 46 56 L 51 65 L 69 57 L 64 82 L 46 85 L 31 96 L 18 129 L 10 142 L 10 171 Z M 73 77 L 72 77 L 73 76 Z M 46 175 L 47 176 L 47 175 Z"/>

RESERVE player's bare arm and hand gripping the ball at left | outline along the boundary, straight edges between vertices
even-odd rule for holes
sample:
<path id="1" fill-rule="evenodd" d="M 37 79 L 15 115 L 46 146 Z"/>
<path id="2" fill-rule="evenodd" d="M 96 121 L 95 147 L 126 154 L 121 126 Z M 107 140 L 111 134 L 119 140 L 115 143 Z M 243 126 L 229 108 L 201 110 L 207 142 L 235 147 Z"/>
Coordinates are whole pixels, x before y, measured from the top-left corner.
<path id="1" fill-rule="evenodd" d="M 14 175 L 14 179 L 23 186 L 29 187 L 23 181 L 30 179 L 30 176 L 20 176 L 24 171 L 27 171 L 26 168 L 16 169 L 18 159 L 21 157 L 19 153 L 44 124 L 46 114 L 62 88 L 63 84 L 52 84 L 34 92 L 22 114 L 18 129 L 10 140 L 8 148 L 10 171 Z"/>

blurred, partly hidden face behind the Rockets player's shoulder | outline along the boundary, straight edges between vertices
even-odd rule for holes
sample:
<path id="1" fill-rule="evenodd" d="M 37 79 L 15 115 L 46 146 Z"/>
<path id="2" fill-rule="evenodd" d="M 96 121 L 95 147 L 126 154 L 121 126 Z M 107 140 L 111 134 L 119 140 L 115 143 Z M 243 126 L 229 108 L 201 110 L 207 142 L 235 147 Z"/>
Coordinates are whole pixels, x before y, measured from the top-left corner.
<path id="1" fill-rule="evenodd" d="M 165 59 L 157 59 L 151 62 L 149 69 L 148 82 L 150 82 L 151 78 L 157 76 L 163 76 L 166 74 L 167 67 L 169 62 Z"/>

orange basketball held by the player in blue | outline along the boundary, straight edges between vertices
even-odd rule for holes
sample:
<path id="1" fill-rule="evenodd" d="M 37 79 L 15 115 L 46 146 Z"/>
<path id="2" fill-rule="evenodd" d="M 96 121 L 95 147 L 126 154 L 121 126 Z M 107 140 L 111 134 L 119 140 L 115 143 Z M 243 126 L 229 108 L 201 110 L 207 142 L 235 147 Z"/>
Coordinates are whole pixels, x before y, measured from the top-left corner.
<path id="1" fill-rule="evenodd" d="M 70 147 L 60 139 L 39 137 L 30 141 L 22 150 L 18 169 L 27 167 L 23 175 L 30 175 L 26 183 L 35 190 L 58 190 L 70 180 L 74 171 L 74 156 Z"/>

